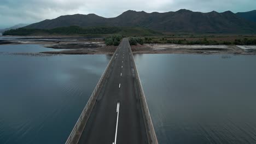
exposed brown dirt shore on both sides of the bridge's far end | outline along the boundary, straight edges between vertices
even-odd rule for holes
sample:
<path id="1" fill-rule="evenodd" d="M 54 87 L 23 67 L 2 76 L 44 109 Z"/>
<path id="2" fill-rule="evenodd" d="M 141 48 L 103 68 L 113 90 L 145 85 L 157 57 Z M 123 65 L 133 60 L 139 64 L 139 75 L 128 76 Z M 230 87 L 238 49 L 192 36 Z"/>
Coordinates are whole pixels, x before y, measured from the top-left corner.
<path id="1" fill-rule="evenodd" d="M 0 44 L 40 44 L 44 47 L 61 49 L 45 51 L 48 54 L 95 55 L 113 54 L 117 46 L 106 46 L 102 38 L 74 37 L 33 37 L 14 40 L 0 40 Z M 199 53 L 199 54 L 234 54 L 256 55 L 256 46 L 236 45 L 174 45 L 144 44 L 131 46 L 133 53 Z"/>

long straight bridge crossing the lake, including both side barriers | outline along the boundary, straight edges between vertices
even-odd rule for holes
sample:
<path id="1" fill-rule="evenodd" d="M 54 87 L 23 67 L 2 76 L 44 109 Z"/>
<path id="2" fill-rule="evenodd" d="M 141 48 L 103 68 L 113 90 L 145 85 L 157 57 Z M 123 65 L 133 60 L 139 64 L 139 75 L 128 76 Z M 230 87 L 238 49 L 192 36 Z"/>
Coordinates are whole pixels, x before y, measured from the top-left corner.
<path id="1" fill-rule="evenodd" d="M 158 143 L 127 38 L 110 59 L 66 143 Z"/>

